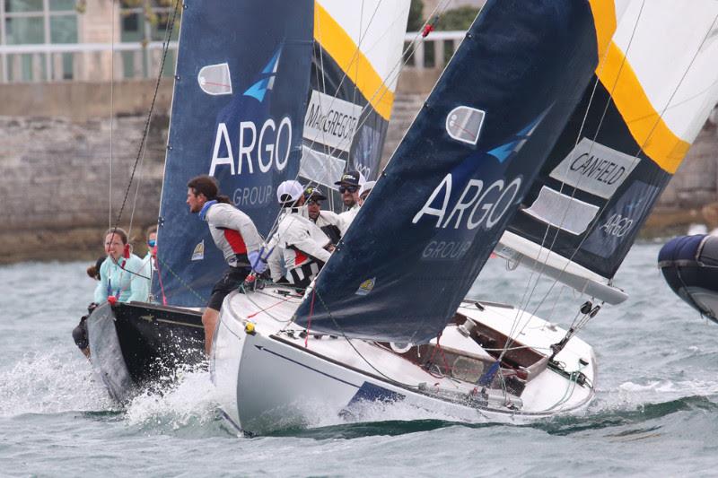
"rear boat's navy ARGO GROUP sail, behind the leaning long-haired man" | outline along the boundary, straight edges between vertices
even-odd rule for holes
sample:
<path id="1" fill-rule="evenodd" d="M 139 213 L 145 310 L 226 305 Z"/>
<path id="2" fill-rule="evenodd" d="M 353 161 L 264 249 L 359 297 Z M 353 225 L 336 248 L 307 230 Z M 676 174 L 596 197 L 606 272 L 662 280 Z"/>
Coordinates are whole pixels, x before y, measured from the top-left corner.
<path id="1" fill-rule="evenodd" d="M 186 2 L 153 294 L 203 306 L 223 257 L 205 222 L 188 213 L 189 178 L 210 174 L 267 235 L 276 187 L 295 178 L 308 100 L 313 2 Z"/>

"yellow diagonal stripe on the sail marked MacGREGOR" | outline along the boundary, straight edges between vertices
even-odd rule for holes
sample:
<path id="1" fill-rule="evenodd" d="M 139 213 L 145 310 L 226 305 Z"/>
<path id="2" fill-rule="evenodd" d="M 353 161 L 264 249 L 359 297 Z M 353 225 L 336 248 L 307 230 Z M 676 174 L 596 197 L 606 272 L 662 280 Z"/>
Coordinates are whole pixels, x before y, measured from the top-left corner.
<path id="1" fill-rule="evenodd" d="M 314 39 L 355 83 L 372 108 L 389 121 L 394 93 L 387 88 L 354 40 L 319 2 L 314 3 Z"/>

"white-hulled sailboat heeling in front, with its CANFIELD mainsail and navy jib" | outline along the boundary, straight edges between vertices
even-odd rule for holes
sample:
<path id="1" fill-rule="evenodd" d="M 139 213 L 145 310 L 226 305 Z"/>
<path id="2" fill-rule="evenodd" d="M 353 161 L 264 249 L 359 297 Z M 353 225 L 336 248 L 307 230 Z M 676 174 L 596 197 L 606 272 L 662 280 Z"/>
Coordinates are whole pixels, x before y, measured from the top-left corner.
<path id="1" fill-rule="evenodd" d="M 626 300 L 613 276 L 718 99 L 716 19 L 710 1 L 487 2 L 311 287 L 225 299 L 210 365 L 229 422 L 586 407 L 597 365 L 575 333 Z M 573 323 L 466 300 L 494 250 L 573 288 Z"/>

